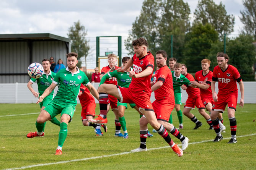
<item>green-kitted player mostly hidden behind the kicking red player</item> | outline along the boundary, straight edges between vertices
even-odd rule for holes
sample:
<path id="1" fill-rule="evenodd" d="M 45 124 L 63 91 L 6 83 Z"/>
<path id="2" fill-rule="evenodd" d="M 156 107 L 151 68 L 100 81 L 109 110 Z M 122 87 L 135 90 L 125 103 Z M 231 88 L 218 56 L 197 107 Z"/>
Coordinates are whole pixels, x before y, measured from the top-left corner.
<path id="1" fill-rule="evenodd" d="M 122 58 L 122 65 L 125 66 L 129 59 L 130 59 L 130 57 Z M 115 77 L 117 79 L 118 86 L 129 87 L 130 83 L 132 82 L 132 78 L 129 77 L 129 70 L 125 71 L 124 73 L 117 72 L 117 70 L 115 70 L 113 72 L 109 72 L 109 73 L 105 74 L 102 77 L 101 82 L 99 83 L 99 86 L 101 84 L 103 84 L 106 79 Z M 130 107 L 135 108 L 135 110 L 137 110 L 137 112 L 140 113 L 139 108 L 135 104 L 130 104 Z M 125 139 L 128 138 L 128 132 L 127 132 L 127 128 L 126 128 L 126 120 L 124 118 L 124 110 L 126 108 L 127 108 L 127 103 L 120 103 L 119 101 L 117 101 L 119 122 L 120 122 L 121 127 L 124 131 L 124 138 Z M 142 113 L 140 113 L 140 115 L 142 116 Z M 116 134 L 118 134 L 118 133 L 120 133 L 120 130 L 119 131 L 116 130 Z M 153 136 L 153 135 L 151 134 L 151 136 Z"/>

